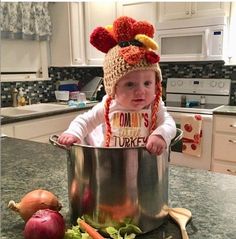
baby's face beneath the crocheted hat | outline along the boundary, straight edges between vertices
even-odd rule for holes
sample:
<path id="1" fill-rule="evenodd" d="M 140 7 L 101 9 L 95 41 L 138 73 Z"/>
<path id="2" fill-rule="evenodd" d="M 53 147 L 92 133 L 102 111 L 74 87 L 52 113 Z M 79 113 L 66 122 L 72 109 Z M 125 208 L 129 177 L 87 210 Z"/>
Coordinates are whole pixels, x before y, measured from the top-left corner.
<path id="1" fill-rule="evenodd" d="M 155 71 L 133 71 L 117 83 L 115 99 L 128 110 L 141 110 L 154 100 L 155 91 Z"/>

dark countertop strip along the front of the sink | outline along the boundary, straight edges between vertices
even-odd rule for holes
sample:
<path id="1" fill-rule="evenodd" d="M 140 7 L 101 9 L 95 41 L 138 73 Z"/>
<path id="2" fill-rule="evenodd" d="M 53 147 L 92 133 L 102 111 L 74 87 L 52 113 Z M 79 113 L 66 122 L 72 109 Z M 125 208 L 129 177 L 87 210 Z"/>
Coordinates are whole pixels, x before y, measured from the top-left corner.
<path id="1" fill-rule="evenodd" d="M 53 116 L 53 115 L 59 115 L 59 114 L 67 114 L 71 112 L 79 112 L 81 110 L 87 110 L 92 108 L 94 105 L 97 103 L 89 103 L 84 107 L 68 107 L 62 110 L 56 110 L 56 111 L 49 111 L 49 112 L 37 112 L 36 114 L 28 114 L 28 115 L 23 115 L 23 116 L 3 116 L 1 118 L 1 124 L 10 124 L 10 123 L 16 123 L 20 121 L 25 121 L 25 120 L 32 120 L 32 119 L 38 119 L 38 118 L 43 118 L 43 117 L 48 117 L 48 116 Z"/>

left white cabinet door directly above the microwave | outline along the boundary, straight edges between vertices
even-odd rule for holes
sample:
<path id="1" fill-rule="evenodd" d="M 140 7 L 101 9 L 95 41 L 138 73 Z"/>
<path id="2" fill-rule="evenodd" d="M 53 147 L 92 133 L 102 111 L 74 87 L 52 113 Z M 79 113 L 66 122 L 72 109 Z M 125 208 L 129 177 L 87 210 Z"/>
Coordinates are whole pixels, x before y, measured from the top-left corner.
<path id="1" fill-rule="evenodd" d="M 159 4 L 159 21 L 183 19 L 191 17 L 191 3 L 162 2 Z"/>

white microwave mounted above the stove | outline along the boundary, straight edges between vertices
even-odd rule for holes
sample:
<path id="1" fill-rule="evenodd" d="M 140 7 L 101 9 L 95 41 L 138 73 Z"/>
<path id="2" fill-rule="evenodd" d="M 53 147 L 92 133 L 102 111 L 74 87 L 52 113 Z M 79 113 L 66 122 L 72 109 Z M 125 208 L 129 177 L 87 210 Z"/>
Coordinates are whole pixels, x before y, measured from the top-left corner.
<path id="1" fill-rule="evenodd" d="M 225 61 L 227 18 L 201 18 L 157 24 L 161 62 Z"/>

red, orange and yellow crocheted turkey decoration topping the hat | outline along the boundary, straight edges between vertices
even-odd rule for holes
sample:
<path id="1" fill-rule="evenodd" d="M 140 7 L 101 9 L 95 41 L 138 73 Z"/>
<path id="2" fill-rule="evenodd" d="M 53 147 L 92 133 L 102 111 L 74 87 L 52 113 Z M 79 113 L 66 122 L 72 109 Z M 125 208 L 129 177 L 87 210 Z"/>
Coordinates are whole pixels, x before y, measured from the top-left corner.
<path id="1" fill-rule="evenodd" d="M 136 21 L 131 17 L 117 18 L 110 27 L 97 27 L 90 35 L 90 43 L 103 53 L 119 44 L 120 55 L 131 65 L 144 57 L 154 64 L 160 57 L 150 49 L 157 49 L 152 39 L 154 27 L 146 21 Z"/>

